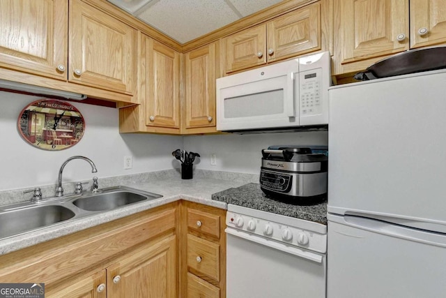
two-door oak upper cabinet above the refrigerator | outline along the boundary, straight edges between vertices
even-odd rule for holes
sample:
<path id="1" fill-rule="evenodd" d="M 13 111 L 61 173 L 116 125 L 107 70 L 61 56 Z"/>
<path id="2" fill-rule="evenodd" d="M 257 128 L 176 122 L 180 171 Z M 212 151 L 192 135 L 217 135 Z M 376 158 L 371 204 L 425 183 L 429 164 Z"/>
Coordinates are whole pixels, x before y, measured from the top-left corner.
<path id="1" fill-rule="evenodd" d="M 445 42 L 446 0 L 334 0 L 334 75 Z"/>

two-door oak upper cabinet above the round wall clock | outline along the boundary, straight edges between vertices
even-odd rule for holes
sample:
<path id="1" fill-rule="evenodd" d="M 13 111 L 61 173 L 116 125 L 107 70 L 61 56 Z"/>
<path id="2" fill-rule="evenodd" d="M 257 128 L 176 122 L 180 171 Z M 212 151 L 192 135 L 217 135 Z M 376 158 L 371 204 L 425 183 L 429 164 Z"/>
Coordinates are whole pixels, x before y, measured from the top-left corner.
<path id="1" fill-rule="evenodd" d="M 1 0 L 0 79 L 133 103 L 137 31 L 80 0 Z"/>

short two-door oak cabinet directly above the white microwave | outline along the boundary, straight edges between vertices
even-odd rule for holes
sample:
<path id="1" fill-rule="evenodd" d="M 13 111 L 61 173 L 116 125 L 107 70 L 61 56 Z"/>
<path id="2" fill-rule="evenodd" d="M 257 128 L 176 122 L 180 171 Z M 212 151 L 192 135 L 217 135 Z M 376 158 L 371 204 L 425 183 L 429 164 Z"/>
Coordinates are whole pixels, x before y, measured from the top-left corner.
<path id="1" fill-rule="evenodd" d="M 321 50 L 321 3 L 222 39 L 225 73 Z"/>

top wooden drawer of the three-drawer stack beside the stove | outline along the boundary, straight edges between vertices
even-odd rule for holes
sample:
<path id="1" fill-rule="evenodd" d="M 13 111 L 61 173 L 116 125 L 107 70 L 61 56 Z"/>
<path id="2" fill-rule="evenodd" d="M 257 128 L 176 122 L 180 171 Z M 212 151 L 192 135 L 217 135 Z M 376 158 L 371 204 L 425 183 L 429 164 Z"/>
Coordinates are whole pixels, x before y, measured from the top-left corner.
<path id="1" fill-rule="evenodd" d="M 187 209 L 187 227 L 220 238 L 220 216 Z"/>

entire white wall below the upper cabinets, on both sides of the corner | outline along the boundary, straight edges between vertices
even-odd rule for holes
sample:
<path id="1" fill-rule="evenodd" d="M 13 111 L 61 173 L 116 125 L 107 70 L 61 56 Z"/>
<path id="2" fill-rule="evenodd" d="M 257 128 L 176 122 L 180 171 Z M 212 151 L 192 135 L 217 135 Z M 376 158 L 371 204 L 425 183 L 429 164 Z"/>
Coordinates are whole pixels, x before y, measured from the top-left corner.
<path id="1" fill-rule="evenodd" d="M 91 158 L 98 173 L 92 174 L 85 161 L 70 161 L 63 171 L 64 182 L 178 169 L 179 161 L 171 156 L 178 148 L 201 155 L 194 162 L 197 169 L 259 174 L 261 149 L 277 144 L 328 144 L 326 131 L 187 137 L 119 134 L 118 109 L 70 102 L 84 116 L 84 137 L 68 149 L 45 151 L 28 144 L 17 129 L 22 109 L 40 98 L 0 91 L 0 191 L 56 184 L 63 161 L 75 155 Z M 217 165 L 210 165 L 210 154 L 217 154 Z M 132 156 L 131 170 L 123 170 L 124 156 Z"/>

